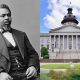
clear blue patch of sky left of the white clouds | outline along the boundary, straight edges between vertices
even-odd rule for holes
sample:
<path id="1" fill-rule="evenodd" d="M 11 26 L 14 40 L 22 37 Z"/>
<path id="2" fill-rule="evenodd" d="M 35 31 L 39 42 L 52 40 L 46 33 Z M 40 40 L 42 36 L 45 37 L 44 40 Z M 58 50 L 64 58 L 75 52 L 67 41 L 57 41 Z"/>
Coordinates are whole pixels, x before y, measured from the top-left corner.
<path id="1" fill-rule="evenodd" d="M 43 18 L 47 13 L 49 13 L 48 1 L 47 0 L 40 0 L 40 32 L 48 32 L 49 28 L 45 27 Z"/>

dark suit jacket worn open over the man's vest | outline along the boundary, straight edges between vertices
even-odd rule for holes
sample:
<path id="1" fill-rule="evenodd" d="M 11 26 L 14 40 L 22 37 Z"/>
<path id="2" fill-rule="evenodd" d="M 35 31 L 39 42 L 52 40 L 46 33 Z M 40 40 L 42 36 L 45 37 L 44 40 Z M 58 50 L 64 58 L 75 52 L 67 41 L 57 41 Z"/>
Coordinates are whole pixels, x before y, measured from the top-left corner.
<path id="1" fill-rule="evenodd" d="M 19 47 L 19 50 L 24 59 L 24 62 L 27 65 L 27 68 L 29 66 L 34 66 L 39 71 L 38 54 L 36 53 L 34 48 L 31 46 L 25 32 L 12 29 L 12 34 Z M 10 65 L 11 63 L 10 63 L 8 49 L 3 39 L 3 36 L 0 33 L 0 72 L 1 71 L 9 72 Z"/>

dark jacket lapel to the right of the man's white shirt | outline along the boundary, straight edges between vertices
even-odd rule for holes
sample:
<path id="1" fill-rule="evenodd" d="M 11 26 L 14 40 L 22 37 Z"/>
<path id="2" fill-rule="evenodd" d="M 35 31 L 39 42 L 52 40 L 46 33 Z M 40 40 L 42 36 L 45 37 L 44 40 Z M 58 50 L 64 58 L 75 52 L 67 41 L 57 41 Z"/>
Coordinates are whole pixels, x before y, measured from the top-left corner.
<path id="1" fill-rule="evenodd" d="M 24 36 L 21 34 L 20 31 L 12 29 L 12 35 L 16 44 L 18 45 L 19 51 L 24 59 Z"/>

